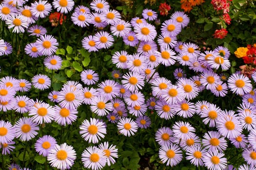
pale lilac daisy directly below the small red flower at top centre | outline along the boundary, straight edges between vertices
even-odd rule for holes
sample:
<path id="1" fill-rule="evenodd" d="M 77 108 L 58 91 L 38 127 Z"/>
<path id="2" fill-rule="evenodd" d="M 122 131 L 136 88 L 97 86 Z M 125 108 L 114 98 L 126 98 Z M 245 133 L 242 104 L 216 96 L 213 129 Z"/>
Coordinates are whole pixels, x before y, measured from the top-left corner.
<path id="1" fill-rule="evenodd" d="M 181 25 L 173 19 L 165 20 L 164 23 L 161 25 L 162 34 L 170 33 L 171 36 L 176 37 L 177 34 L 179 34 L 180 32 L 181 32 Z"/>

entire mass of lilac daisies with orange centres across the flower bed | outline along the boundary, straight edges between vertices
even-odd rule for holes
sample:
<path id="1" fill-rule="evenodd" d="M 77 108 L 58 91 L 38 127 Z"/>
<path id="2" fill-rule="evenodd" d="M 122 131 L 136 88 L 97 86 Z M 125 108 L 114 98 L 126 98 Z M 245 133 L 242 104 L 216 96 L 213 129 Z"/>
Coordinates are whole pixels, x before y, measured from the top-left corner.
<path id="1" fill-rule="evenodd" d="M 166 166 L 176 166 L 185 156 L 197 167 L 233 170 L 224 155 L 230 141 L 236 148 L 243 149 L 242 156 L 247 164 L 241 165 L 239 170 L 255 169 L 256 91 L 251 82 L 256 81 L 256 73 L 252 80 L 241 72 L 229 77 L 218 74 L 217 69 L 224 72 L 231 67 L 227 48 L 218 46 L 212 51 L 201 52 L 194 43 L 178 41 L 177 35 L 189 23 L 189 17 L 183 12 L 172 14 L 157 31 L 152 23 L 158 15 L 150 9 L 144 9 L 140 17 L 125 21 L 117 10 L 110 9 L 105 0 L 93 0 L 90 8 L 79 5 L 73 11 L 74 6 L 73 0 L 54 0 L 52 3 L 38 0 L 30 6 L 26 0 L 4 0 L 0 4 L 0 19 L 13 33 L 26 31 L 37 36 L 36 42 L 27 44 L 24 51 L 33 58 L 45 56 L 43 63 L 48 69 L 61 68 L 62 58 L 55 55 L 58 41 L 35 23 L 39 18 L 47 17 L 53 9 L 62 14 L 72 12 L 71 20 L 78 27 L 91 24 L 100 28 L 95 34 L 83 37 L 81 45 L 87 51 L 109 49 L 114 45 L 115 37 L 122 38 L 125 45 L 137 51 L 114 52 L 112 63 L 117 69 L 112 72 L 112 79 L 99 82 L 96 71 L 85 69 L 80 73 L 80 82 L 67 81 L 59 91 L 51 91 L 48 98 L 54 106 L 18 95 L 25 94 L 32 87 L 50 89 L 52 82 L 49 76 L 37 74 L 31 81 L 2 77 L 0 111 L 28 113 L 28 117 L 21 117 L 14 125 L 0 120 L 2 154 L 10 154 L 14 150 L 15 138 L 20 141 L 38 138 L 35 143 L 37 153 L 47 157 L 52 167 L 70 169 L 77 158 L 74 148 L 66 143 L 58 144 L 53 136 L 38 136 L 38 133 L 43 123 L 55 121 L 61 126 L 71 125 L 78 118 L 79 106 L 87 104 L 97 118 L 85 119 L 79 125 L 79 134 L 86 142 L 99 144 L 83 151 L 81 161 L 85 168 L 99 170 L 116 162 L 118 148 L 109 142 L 100 143 L 107 135 L 108 122 L 116 124 L 119 134 L 130 137 L 139 128 L 150 128 L 151 110 L 166 121 L 172 121 L 174 117 L 190 119 L 197 114 L 205 125 L 215 129 L 200 138 L 189 122 L 177 121 L 172 123 L 172 127 L 159 127 L 154 133 L 160 146 L 159 159 Z M 0 40 L 0 55 L 10 53 L 11 44 Z M 181 67 L 177 68 L 173 73 L 175 82 L 158 74 L 159 66 L 172 67 L 175 64 L 195 74 L 189 77 Z M 150 85 L 151 89 L 145 91 L 145 85 Z M 204 90 L 216 97 L 235 93 L 242 98 L 242 103 L 233 111 L 221 110 L 207 101 L 192 102 Z M 249 135 L 244 135 L 244 131 Z M 12 167 L 19 165 L 13 164 Z"/>

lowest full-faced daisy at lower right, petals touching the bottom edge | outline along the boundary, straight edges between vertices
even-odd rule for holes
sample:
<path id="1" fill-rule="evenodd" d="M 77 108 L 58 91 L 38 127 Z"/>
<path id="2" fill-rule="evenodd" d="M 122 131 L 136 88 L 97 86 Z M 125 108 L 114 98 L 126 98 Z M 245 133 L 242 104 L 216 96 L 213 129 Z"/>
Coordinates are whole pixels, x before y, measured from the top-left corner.
<path id="1" fill-rule="evenodd" d="M 224 153 L 218 151 L 208 151 L 202 160 L 208 170 L 226 170 L 227 168 L 227 158 L 224 157 Z"/>

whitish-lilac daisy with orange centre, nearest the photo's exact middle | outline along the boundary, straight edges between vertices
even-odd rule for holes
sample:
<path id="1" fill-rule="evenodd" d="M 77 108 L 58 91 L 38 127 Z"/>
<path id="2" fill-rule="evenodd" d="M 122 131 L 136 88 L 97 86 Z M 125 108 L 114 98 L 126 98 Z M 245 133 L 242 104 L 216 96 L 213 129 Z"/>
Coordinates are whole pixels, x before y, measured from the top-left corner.
<path id="1" fill-rule="evenodd" d="M 123 75 L 122 85 L 130 91 L 138 91 L 144 86 L 144 78 L 137 72 L 128 71 Z"/>

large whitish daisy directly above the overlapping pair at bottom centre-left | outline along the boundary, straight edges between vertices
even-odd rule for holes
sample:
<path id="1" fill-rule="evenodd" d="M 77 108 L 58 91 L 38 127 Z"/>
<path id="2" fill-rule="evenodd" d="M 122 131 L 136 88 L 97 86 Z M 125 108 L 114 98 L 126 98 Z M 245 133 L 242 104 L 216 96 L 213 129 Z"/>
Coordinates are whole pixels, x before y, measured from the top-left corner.
<path id="1" fill-rule="evenodd" d="M 79 129 L 79 134 L 89 143 L 98 143 L 107 134 L 105 123 L 95 118 L 85 119 Z"/>

